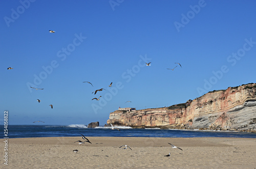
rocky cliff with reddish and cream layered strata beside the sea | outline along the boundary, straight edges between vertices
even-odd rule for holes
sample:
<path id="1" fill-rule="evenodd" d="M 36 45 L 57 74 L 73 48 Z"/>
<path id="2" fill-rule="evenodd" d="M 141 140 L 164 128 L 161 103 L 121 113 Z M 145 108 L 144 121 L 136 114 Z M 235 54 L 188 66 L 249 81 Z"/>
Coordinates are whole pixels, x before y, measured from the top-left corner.
<path id="1" fill-rule="evenodd" d="M 116 110 L 108 124 L 131 127 L 256 132 L 256 83 L 212 91 L 186 103 L 136 111 Z"/>

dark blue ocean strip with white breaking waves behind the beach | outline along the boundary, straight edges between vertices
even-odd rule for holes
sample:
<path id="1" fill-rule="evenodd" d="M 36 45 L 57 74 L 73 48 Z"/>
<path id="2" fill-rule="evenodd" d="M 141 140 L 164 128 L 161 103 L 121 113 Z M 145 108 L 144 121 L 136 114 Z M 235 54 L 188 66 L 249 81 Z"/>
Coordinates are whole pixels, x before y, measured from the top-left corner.
<path id="1" fill-rule="evenodd" d="M 114 126 L 115 127 L 115 126 Z M 4 126 L 1 125 L 4 138 Z M 111 127 L 99 126 L 87 128 L 86 125 L 9 125 L 9 138 L 25 137 L 71 137 L 71 136 L 98 136 L 98 137 L 240 137 L 256 138 L 256 133 L 232 131 L 203 131 L 203 130 L 176 130 L 176 129 L 150 129 L 119 126 L 118 130 Z"/>

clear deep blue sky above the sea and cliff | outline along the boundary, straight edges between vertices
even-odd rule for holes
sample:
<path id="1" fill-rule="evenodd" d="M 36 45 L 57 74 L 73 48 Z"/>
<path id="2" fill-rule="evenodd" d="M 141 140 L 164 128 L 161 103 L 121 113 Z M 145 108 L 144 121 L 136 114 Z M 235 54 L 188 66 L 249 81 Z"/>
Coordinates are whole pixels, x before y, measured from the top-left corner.
<path id="1" fill-rule="evenodd" d="M 104 125 L 118 107 L 170 106 L 256 82 L 255 5 L 2 1 L 0 124 L 8 110 L 9 124 Z"/>

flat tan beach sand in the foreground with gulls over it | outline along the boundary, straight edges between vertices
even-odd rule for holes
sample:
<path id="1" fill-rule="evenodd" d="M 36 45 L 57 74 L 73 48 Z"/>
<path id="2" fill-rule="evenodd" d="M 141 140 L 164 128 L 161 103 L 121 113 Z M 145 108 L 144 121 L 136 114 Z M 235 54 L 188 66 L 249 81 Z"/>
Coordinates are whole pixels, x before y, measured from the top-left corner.
<path id="1" fill-rule="evenodd" d="M 255 138 L 9 138 L 8 168 L 255 168 Z M 5 139 L 0 139 L 4 164 Z M 83 140 L 82 140 L 83 141 Z M 168 144 L 180 147 L 172 149 Z M 127 145 L 130 149 L 119 149 Z M 73 150 L 78 152 L 74 153 Z M 170 157 L 164 157 L 169 154 Z"/>

